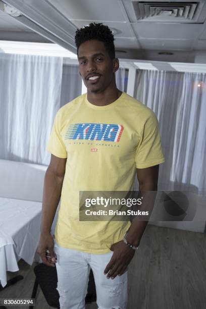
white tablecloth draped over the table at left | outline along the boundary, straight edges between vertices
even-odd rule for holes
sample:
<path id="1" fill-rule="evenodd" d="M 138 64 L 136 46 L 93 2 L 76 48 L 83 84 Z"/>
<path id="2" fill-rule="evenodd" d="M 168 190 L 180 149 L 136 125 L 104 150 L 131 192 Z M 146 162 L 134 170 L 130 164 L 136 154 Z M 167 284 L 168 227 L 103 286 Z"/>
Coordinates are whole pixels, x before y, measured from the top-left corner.
<path id="1" fill-rule="evenodd" d="M 7 271 L 18 271 L 23 259 L 32 265 L 41 219 L 41 202 L 0 197 L 0 282 L 7 284 Z"/>

